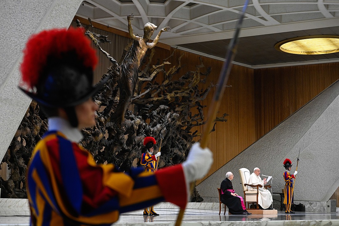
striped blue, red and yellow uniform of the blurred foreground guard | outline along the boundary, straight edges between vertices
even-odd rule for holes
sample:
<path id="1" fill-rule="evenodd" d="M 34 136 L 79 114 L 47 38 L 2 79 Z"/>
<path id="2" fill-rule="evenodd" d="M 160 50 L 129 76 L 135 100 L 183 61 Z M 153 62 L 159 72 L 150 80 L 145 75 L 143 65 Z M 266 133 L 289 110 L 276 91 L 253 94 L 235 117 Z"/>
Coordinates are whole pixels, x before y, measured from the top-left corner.
<path id="1" fill-rule="evenodd" d="M 147 196 L 144 193 L 147 192 Z M 111 225 L 119 213 L 161 201 L 187 202 L 181 165 L 156 173 L 118 172 L 96 165 L 89 152 L 60 131 L 48 131 L 34 149 L 27 171 L 31 225 Z"/>

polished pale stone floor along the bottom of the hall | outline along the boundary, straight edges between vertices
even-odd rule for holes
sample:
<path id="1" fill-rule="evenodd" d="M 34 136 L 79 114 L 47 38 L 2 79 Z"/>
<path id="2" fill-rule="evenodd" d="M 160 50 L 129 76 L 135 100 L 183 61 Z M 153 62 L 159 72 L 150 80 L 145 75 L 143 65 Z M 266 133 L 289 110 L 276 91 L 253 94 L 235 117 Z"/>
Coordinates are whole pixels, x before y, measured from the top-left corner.
<path id="1" fill-rule="evenodd" d="M 142 211 L 123 213 L 114 225 L 174 225 L 179 209 L 156 209 L 160 216 L 143 216 Z M 182 225 L 339 225 L 339 213 L 296 212 L 285 214 L 279 211 L 274 215 L 226 215 L 219 210 L 186 209 Z M 145 223 L 147 222 L 147 223 Z M 149 223 L 154 222 L 154 223 Z M 27 226 L 28 216 L 0 216 L 0 226 Z"/>

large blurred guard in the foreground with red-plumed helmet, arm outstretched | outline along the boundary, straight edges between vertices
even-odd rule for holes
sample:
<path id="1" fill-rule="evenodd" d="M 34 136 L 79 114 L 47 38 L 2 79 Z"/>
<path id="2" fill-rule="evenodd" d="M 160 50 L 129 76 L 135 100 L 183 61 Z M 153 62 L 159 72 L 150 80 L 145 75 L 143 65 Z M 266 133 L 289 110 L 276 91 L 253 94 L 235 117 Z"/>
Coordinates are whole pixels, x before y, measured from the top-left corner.
<path id="1" fill-rule="evenodd" d="M 96 124 L 92 97 L 108 77 L 92 86 L 97 57 L 84 31 L 42 31 L 23 52 L 21 89 L 48 116 L 26 171 L 31 225 L 111 225 L 120 213 L 163 201 L 185 207 L 189 183 L 211 167 L 210 150 L 196 143 L 185 162 L 153 173 L 96 165 L 78 143 L 81 130 Z"/>

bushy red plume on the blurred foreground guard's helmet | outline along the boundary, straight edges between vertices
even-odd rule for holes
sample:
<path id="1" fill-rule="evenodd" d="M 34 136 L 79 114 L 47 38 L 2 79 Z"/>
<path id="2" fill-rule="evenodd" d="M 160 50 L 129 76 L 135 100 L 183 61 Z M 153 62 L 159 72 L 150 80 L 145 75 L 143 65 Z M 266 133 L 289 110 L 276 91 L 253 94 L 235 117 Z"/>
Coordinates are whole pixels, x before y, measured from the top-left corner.
<path id="1" fill-rule="evenodd" d="M 50 57 L 62 58 L 63 54 L 73 51 L 83 67 L 95 68 L 98 62 L 96 51 L 85 37 L 83 29 L 52 29 L 32 35 L 23 51 L 20 66 L 22 81 L 34 88 L 45 70 Z"/>

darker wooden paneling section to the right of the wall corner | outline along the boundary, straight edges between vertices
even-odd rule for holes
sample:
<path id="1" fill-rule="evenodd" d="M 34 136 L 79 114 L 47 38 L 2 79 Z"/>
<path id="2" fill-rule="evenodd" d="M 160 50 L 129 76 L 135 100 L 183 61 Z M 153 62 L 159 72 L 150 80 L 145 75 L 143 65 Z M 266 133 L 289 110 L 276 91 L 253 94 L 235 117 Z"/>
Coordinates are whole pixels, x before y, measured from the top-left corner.
<path id="1" fill-rule="evenodd" d="M 261 137 L 338 78 L 339 63 L 255 70 L 256 119 Z"/>

